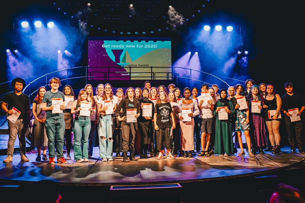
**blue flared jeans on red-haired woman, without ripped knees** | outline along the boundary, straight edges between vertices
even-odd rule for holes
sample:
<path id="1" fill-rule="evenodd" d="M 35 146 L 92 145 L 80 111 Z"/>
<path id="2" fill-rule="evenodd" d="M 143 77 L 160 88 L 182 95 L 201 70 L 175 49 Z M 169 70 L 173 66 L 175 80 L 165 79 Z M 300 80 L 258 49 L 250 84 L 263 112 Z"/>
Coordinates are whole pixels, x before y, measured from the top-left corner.
<path id="1" fill-rule="evenodd" d="M 75 116 L 74 133 L 74 160 L 88 158 L 88 139 L 91 130 L 89 116 Z"/>

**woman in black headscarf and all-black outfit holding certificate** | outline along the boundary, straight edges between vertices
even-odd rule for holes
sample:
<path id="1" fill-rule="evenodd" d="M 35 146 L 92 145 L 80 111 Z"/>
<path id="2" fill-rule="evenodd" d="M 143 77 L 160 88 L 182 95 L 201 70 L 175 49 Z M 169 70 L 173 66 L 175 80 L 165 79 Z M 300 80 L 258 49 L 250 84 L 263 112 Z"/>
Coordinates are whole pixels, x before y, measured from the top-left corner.
<path id="1" fill-rule="evenodd" d="M 138 118 L 138 130 L 139 135 L 141 136 L 140 158 L 148 158 L 148 145 L 153 142 L 155 132 L 152 124 L 152 118 L 155 112 L 155 105 L 152 101 L 148 99 L 148 88 L 143 88 L 141 92 L 142 98 L 138 99 L 141 105 L 140 116 Z"/>

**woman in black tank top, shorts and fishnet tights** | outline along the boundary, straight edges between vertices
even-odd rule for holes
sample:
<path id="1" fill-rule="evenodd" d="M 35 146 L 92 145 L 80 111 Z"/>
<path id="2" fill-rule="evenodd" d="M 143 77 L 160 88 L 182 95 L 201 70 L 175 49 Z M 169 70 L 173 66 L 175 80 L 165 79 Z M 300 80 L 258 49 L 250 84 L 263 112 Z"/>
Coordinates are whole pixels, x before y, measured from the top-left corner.
<path id="1" fill-rule="evenodd" d="M 281 125 L 281 106 L 282 99 L 279 94 L 275 93 L 274 86 L 268 84 L 266 86 L 266 94 L 264 95 L 264 108 L 266 108 L 266 126 L 269 132 L 269 140 L 272 146 L 272 154 L 279 154 L 280 148 L 280 125 Z"/>

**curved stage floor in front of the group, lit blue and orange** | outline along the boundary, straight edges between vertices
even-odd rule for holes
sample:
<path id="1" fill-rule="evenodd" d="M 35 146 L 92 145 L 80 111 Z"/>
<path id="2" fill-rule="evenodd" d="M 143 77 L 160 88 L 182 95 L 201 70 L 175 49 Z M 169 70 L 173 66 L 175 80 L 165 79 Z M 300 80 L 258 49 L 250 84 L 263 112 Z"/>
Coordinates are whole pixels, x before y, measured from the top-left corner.
<path id="1" fill-rule="evenodd" d="M 240 152 L 240 149 L 238 149 Z M 99 160 L 99 148 L 94 148 L 93 157 L 89 162 L 77 163 L 68 160 L 67 164 L 49 165 L 47 161 L 36 162 L 37 154 L 27 154 L 30 162 L 21 162 L 20 155 L 14 155 L 13 161 L 0 164 L 0 179 L 10 183 L 19 181 L 38 181 L 50 179 L 61 185 L 73 186 L 110 186 L 110 185 L 139 185 L 163 183 L 188 183 L 206 180 L 221 180 L 270 173 L 277 170 L 289 169 L 304 162 L 305 154 L 290 153 L 290 147 L 281 148 L 280 154 L 271 151 L 264 155 L 250 158 L 246 155 L 199 157 L 176 159 L 156 157 L 123 162 L 123 157 L 113 157 L 113 161 Z M 298 152 L 298 151 L 297 151 Z M 73 159 L 73 151 L 70 153 Z M 115 155 L 115 153 L 113 153 Z M 64 154 L 66 157 L 66 154 Z M 6 155 L 0 156 L 0 160 Z"/>

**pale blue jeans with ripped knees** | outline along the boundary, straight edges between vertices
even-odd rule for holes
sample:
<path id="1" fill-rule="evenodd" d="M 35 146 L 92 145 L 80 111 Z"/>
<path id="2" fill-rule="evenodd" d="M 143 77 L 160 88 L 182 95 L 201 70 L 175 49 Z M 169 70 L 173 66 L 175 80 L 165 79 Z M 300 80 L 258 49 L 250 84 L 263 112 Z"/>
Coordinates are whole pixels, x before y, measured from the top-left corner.
<path id="1" fill-rule="evenodd" d="M 113 114 L 99 116 L 99 157 L 113 158 L 112 156 L 112 135 L 114 132 Z"/>

